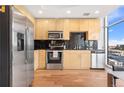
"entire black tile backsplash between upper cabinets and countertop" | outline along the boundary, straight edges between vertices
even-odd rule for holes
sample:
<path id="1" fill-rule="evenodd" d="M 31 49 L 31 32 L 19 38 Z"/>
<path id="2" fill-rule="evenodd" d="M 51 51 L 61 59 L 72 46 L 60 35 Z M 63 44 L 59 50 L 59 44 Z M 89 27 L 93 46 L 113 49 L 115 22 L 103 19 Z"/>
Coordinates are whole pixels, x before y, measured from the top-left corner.
<path id="1" fill-rule="evenodd" d="M 87 40 L 86 33 L 82 32 L 71 32 L 70 40 L 35 40 L 34 49 L 50 49 L 49 45 L 59 46 L 64 45 L 65 48 L 55 49 L 69 49 L 69 50 L 97 50 L 97 40 Z M 53 48 L 52 48 L 53 49 Z"/>

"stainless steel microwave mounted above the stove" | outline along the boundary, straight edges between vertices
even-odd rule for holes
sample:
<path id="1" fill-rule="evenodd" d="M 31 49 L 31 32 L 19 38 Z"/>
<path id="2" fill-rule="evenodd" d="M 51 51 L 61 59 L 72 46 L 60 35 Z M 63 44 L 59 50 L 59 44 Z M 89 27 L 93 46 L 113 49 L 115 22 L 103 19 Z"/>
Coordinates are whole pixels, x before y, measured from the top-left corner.
<path id="1" fill-rule="evenodd" d="M 61 40 L 63 39 L 63 31 L 48 31 L 49 40 Z"/>

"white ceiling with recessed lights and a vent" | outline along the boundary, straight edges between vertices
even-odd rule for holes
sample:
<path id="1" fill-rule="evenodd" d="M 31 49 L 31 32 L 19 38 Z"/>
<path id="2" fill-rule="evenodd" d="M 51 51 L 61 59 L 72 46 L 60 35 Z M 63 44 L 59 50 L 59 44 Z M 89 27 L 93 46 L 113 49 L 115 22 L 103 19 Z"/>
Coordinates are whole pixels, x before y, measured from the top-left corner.
<path id="1" fill-rule="evenodd" d="M 25 5 L 35 18 L 99 18 L 117 5 Z"/>

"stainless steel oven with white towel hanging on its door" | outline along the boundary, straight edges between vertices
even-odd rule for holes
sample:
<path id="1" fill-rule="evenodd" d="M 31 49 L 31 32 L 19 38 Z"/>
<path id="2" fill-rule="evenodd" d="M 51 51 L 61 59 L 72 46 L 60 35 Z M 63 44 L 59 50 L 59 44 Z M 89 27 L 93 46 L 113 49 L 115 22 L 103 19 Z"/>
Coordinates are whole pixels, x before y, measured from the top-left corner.
<path id="1" fill-rule="evenodd" d="M 62 69 L 63 52 L 61 50 L 47 50 L 47 69 Z"/>

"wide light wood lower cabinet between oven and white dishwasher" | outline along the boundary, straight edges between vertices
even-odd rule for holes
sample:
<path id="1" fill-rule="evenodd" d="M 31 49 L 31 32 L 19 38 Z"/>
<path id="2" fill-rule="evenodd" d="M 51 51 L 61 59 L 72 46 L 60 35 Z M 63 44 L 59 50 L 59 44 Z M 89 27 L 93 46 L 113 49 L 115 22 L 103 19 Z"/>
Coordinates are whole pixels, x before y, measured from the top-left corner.
<path id="1" fill-rule="evenodd" d="M 64 50 L 63 69 L 90 69 L 90 55 L 88 50 Z"/>

